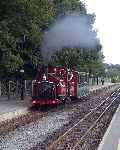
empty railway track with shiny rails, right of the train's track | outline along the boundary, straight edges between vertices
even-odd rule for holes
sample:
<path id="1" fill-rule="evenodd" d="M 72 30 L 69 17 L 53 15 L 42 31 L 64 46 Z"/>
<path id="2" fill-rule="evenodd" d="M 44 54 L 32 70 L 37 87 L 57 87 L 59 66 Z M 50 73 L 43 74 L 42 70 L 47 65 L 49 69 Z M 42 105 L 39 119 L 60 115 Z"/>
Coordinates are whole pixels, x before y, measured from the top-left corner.
<path id="1" fill-rule="evenodd" d="M 95 127 L 96 123 L 103 117 L 105 112 L 120 97 L 120 88 L 107 97 L 100 105 L 91 110 L 72 128 L 60 136 L 48 150 L 75 150 L 85 140 L 87 134 Z"/>

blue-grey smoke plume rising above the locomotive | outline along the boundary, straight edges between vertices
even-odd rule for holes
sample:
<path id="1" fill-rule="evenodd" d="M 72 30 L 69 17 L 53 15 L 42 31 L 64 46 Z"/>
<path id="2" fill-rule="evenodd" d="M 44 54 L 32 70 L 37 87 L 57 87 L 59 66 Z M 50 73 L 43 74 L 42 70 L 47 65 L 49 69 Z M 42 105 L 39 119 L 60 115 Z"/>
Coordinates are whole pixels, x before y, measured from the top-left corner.
<path id="1" fill-rule="evenodd" d="M 56 51 L 67 48 L 96 48 L 97 34 L 92 29 L 89 15 L 68 15 L 59 19 L 44 35 L 41 53 L 44 61 Z"/>

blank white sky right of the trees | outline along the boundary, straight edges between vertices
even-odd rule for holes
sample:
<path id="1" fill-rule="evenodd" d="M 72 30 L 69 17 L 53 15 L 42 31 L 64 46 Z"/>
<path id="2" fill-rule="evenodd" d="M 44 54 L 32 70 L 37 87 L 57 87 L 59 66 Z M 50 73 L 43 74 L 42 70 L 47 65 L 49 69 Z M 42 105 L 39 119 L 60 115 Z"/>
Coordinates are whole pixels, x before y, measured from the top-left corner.
<path id="1" fill-rule="evenodd" d="M 106 63 L 120 64 L 120 0 L 82 0 L 95 13 Z"/>

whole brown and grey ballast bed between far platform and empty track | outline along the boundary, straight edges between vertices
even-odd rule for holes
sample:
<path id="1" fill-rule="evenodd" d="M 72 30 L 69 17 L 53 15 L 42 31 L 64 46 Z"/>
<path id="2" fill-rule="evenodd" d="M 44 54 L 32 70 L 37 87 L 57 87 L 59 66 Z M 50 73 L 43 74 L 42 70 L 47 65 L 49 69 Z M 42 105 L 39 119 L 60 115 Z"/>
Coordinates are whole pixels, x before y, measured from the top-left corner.
<path id="1" fill-rule="evenodd" d="M 95 92 L 94 96 L 90 96 L 89 100 L 73 102 L 63 109 L 30 112 L 0 124 L 0 141 L 2 142 L 0 142 L 0 149 L 3 147 L 7 149 L 7 145 L 9 149 L 13 146 L 15 149 L 48 149 L 48 145 L 104 101 L 104 98 L 113 93 L 116 88 L 117 86 L 100 90 L 97 94 Z M 52 136 L 54 136 L 53 139 Z"/>

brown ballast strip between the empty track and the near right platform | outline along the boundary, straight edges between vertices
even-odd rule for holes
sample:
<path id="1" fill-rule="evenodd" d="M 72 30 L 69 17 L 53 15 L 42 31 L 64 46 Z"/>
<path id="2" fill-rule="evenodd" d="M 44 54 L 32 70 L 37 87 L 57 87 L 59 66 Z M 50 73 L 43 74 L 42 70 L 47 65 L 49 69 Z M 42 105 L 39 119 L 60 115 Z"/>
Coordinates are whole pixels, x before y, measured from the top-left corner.
<path id="1" fill-rule="evenodd" d="M 89 134 L 85 137 L 85 141 L 81 142 L 76 150 L 97 150 L 98 146 L 104 136 L 105 131 L 107 130 L 116 109 L 119 106 L 119 98 L 118 102 L 114 104 L 114 106 L 110 107 L 105 115 L 98 121 L 96 126 L 89 132 Z M 106 149 L 107 150 L 107 149 Z"/>

